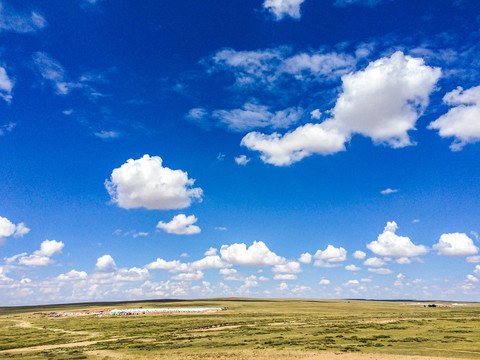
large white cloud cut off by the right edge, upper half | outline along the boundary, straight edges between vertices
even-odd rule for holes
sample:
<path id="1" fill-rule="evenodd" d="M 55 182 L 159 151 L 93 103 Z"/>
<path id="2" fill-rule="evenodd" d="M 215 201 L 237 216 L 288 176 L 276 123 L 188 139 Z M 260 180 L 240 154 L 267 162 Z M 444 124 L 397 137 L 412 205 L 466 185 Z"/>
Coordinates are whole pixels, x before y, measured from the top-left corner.
<path id="1" fill-rule="evenodd" d="M 480 86 L 464 90 L 461 87 L 447 93 L 443 102 L 453 106 L 445 115 L 430 123 L 444 138 L 454 138 L 450 149 L 461 150 L 466 144 L 480 141 Z"/>

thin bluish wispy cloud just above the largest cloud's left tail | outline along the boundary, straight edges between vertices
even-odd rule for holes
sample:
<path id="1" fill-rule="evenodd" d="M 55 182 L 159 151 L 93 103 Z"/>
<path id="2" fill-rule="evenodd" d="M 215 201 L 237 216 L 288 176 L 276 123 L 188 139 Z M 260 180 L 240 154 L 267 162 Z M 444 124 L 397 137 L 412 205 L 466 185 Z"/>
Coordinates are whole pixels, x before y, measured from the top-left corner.
<path id="1" fill-rule="evenodd" d="M 245 103 L 241 109 L 215 110 L 212 117 L 236 132 L 269 127 L 286 129 L 297 123 L 303 115 L 301 108 L 287 108 L 271 112 L 268 106 Z"/>

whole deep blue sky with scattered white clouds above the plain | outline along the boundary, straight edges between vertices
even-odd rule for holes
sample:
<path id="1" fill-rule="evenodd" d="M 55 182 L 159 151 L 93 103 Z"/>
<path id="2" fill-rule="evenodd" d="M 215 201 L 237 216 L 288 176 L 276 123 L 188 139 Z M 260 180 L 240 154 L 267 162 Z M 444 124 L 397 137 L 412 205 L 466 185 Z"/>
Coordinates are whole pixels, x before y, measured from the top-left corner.
<path id="1" fill-rule="evenodd" d="M 0 303 L 480 294 L 473 1 L 0 2 Z"/>

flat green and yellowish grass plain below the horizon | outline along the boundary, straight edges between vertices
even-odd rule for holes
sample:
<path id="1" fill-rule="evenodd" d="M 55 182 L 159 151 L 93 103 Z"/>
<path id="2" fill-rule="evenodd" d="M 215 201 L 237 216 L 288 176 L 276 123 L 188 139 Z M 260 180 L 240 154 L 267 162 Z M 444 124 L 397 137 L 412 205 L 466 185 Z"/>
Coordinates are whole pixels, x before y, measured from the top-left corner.
<path id="1" fill-rule="evenodd" d="M 34 314 L 138 307 L 228 310 Z M 385 301 L 213 299 L 0 308 L 0 359 L 323 359 L 329 354 L 480 359 L 480 304 L 428 308 Z"/>

